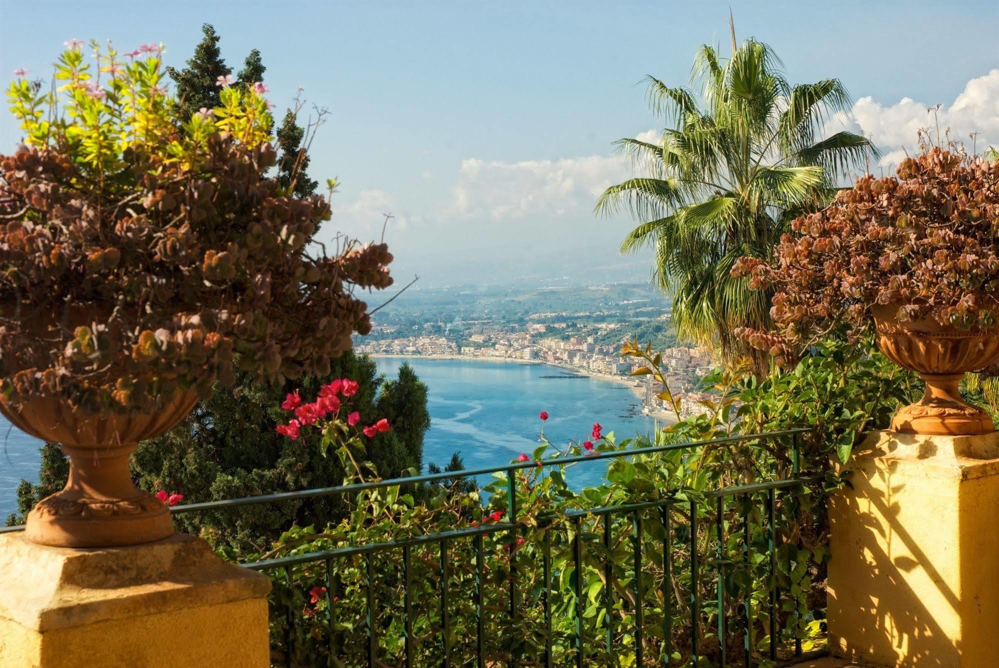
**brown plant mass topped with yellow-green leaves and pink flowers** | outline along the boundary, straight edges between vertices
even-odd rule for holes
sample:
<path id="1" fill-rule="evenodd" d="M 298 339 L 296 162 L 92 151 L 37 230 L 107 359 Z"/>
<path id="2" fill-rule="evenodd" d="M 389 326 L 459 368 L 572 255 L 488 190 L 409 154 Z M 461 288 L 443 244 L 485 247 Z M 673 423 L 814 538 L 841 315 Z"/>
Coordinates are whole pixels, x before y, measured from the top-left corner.
<path id="1" fill-rule="evenodd" d="M 63 60 L 76 63 L 78 52 Z M 152 71 L 156 55 L 137 67 Z M 136 140 L 120 112 L 128 100 L 160 100 L 156 80 L 119 81 L 95 97 L 85 66 L 63 69 L 70 104 L 90 105 L 90 120 L 41 127 L 22 114 L 31 146 L 0 156 L 5 401 L 147 411 L 178 391 L 207 395 L 233 380 L 236 364 L 274 381 L 329 373 L 352 334 L 370 331 L 355 291 L 390 286 L 392 255 L 385 244 L 344 241 L 332 257 L 317 250 L 329 204 L 267 178 L 276 155 L 260 93 L 232 91 L 217 121 L 193 120 L 184 136 Z M 12 89 L 34 90 L 22 84 Z M 162 127 L 173 127 L 175 106 L 162 102 Z M 238 132 L 222 129 L 234 118 Z M 106 127 L 91 132 L 91 121 Z"/>

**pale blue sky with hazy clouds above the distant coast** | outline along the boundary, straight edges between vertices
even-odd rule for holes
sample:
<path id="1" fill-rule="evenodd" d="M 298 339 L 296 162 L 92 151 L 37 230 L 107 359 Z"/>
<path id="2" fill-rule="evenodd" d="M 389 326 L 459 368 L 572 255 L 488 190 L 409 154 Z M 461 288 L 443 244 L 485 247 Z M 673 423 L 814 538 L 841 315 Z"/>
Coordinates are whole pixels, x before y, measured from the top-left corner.
<path id="1" fill-rule="evenodd" d="M 858 101 L 843 123 L 888 153 L 911 145 L 936 103 L 955 132 L 999 142 L 996 3 L 731 9 L 737 37 L 773 46 L 792 82 L 842 79 Z M 0 74 L 48 77 L 71 37 L 123 50 L 164 42 L 166 60 L 181 65 L 212 23 L 234 69 L 261 50 L 279 106 L 303 86 L 329 107 L 311 172 L 344 184 L 330 232 L 368 239 L 381 213 L 396 215 L 388 241 L 399 279 L 641 279 L 648 258 L 616 252 L 630 222 L 594 218 L 593 193 L 622 175 L 610 143 L 657 127 L 637 82 L 687 83 L 694 50 L 727 41 L 727 21 L 728 4 L 713 1 L 0 0 Z M 0 152 L 18 136 L 0 117 Z"/>

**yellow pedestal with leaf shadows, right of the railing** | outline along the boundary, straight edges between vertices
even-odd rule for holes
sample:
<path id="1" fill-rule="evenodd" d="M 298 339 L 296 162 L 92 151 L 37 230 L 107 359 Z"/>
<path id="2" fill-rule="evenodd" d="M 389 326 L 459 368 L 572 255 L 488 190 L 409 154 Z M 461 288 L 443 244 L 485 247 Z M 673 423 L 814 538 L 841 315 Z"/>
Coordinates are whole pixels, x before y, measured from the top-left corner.
<path id="1" fill-rule="evenodd" d="M 830 501 L 833 655 L 999 666 L 999 432 L 868 435 Z"/>

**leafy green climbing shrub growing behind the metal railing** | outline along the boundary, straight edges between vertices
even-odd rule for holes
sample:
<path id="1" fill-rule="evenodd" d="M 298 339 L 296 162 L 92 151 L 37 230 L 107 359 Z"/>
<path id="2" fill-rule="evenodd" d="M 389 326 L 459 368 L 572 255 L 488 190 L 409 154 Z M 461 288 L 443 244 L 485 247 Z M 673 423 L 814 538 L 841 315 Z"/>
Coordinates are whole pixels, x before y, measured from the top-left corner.
<path id="1" fill-rule="evenodd" d="M 634 347 L 634 355 L 645 359 L 648 372 L 658 365 L 657 355 Z M 647 356 L 646 355 L 647 352 Z M 729 434 L 772 431 L 802 424 L 814 430 L 801 441 L 802 469 L 817 474 L 820 482 L 803 493 L 775 494 L 774 526 L 777 530 L 775 562 L 771 576 L 767 554 L 769 520 L 766 494 L 728 496 L 720 506 L 722 534 L 718 536 L 719 506 L 705 494 L 714 489 L 787 477 L 792 469 L 789 437 L 750 439 L 740 443 L 711 443 L 692 448 L 665 450 L 630 459 L 614 459 L 605 481 L 595 487 L 573 489 L 571 468 L 575 463 L 539 468 L 527 466 L 515 473 L 517 519 L 522 528 L 512 533 L 503 528 L 483 537 L 484 636 L 488 662 L 506 663 L 511 655 L 524 665 L 538 661 L 549 640 L 559 665 L 574 660 L 575 611 L 581 605 L 584 662 L 589 665 L 635 666 L 634 628 L 640 604 L 644 618 L 644 661 L 662 661 L 664 651 L 664 599 L 669 596 L 671 656 L 667 663 L 680 665 L 690 655 L 689 633 L 694 591 L 703 604 L 699 611 L 702 633 L 700 652 L 705 665 L 719 657 L 718 574 L 723 574 L 725 592 L 722 617 L 728 656 L 739 656 L 744 634 L 740 622 L 748 601 L 753 625 L 753 646 L 763 655 L 769 645 L 769 592 L 780 593 L 775 622 L 780 629 L 778 644 L 789 649 L 792 638 L 802 639 L 803 648 L 822 646 L 825 569 L 829 559 L 828 526 L 825 521 L 825 489 L 840 484 L 832 459 L 848 460 L 857 436 L 867 428 L 885 426 L 899 401 L 908 400 L 912 377 L 878 353 L 842 341 L 816 346 L 791 372 L 773 373 L 762 379 L 747 368 L 716 370 L 704 378 L 713 388 L 706 412 L 681 420 L 655 434 L 652 439 L 617 442 L 612 433 L 596 441 L 598 452 L 627 451 L 651 444 L 668 445 Z M 664 388 L 663 391 L 668 391 Z M 675 396 L 677 403 L 685 400 Z M 555 449 L 544 441 L 531 454 L 540 459 L 551 453 L 582 454 L 579 444 Z M 295 527 L 282 536 L 267 556 L 301 555 L 352 545 L 387 542 L 407 536 L 489 527 L 500 512 L 506 521 L 510 507 L 504 473 L 482 491 L 442 486 L 429 489 L 423 502 L 391 487 L 362 492 L 352 498 L 349 520 L 328 525 Z M 569 516 L 572 510 L 619 506 L 638 501 L 671 498 L 666 529 L 657 509 L 640 517 L 641 580 L 637 587 L 634 565 L 635 515 L 615 513 Z M 694 542 L 700 561 L 699 577 L 690 576 L 690 506 L 696 513 L 698 531 Z M 609 522 L 609 538 L 605 530 Z M 748 535 L 748 543 L 746 543 Z M 579 538 L 581 568 L 575 562 L 575 537 Z M 522 542 L 520 542 L 522 539 Z M 720 542 L 720 547 L 719 547 Z M 748 544 L 748 551 L 744 548 Z M 510 545 L 515 545 L 511 562 Z M 608 547 L 609 546 L 609 547 Z M 552 627 L 543 623 L 545 548 L 550 549 Z M 372 583 L 376 600 L 375 624 L 379 656 L 388 665 L 401 660 L 404 651 L 404 601 L 409 590 L 413 602 L 414 654 L 418 665 L 438 665 L 443 659 L 441 642 L 442 560 L 448 564 L 450 596 L 450 640 L 456 664 L 475 653 L 476 630 L 476 541 L 449 541 L 442 556 L 438 543 L 410 548 L 411 577 L 407 583 L 402 568 L 402 548 L 389 548 L 372 556 L 377 577 Z M 748 554 L 748 558 L 744 554 Z M 229 553 L 230 556 L 235 556 Z M 667 580 L 662 559 L 670 559 Z M 248 555 L 244 555 L 247 557 Z M 252 558 L 250 555 L 249 558 Z M 509 578 L 515 564 L 518 615 L 511 618 Z M 272 605 L 272 645 L 286 652 L 286 612 L 296 613 L 298 665 L 360 665 L 366 639 L 368 579 L 363 555 L 338 558 L 335 565 L 338 589 L 330 592 L 323 562 L 303 564 L 291 571 L 292 586 L 284 571 L 272 573 L 275 592 Z M 609 575 L 609 579 L 607 576 Z M 576 590 L 580 598 L 576 598 Z M 607 592 L 612 592 L 609 611 L 610 647 L 607 633 Z M 331 615 L 331 605 L 333 613 Z M 333 626 L 331 628 L 331 619 Z M 340 654 L 330 662 L 331 632 Z M 277 656 L 277 654 L 276 654 Z M 287 658 L 287 657 L 286 657 Z M 760 665 L 766 665 L 760 660 Z"/>

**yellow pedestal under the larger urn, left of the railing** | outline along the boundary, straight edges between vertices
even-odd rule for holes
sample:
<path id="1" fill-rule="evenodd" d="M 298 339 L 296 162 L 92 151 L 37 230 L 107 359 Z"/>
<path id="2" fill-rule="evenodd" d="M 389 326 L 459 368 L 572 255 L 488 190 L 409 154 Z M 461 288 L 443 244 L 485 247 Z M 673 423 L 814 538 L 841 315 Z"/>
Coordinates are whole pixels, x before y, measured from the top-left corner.
<path id="1" fill-rule="evenodd" d="M 0 535 L 0 666 L 267 668 L 270 588 L 185 534 L 107 549 Z"/>

